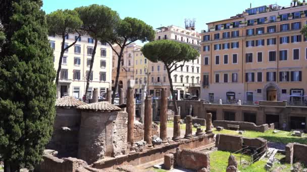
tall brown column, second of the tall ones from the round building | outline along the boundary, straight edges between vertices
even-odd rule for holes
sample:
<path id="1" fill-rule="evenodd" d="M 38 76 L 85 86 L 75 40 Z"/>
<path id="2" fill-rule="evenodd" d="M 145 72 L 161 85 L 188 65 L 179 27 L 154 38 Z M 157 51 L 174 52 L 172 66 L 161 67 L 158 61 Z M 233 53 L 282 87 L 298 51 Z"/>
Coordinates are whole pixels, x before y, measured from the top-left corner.
<path id="1" fill-rule="evenodd" d="M 146 96 L 145 114 L 144 114 L 144 141 L 146 141 L 147 143 L 147 148 L 152 148 L 151 123 L 152 123 L 152 100 L 151 96 Z"/>

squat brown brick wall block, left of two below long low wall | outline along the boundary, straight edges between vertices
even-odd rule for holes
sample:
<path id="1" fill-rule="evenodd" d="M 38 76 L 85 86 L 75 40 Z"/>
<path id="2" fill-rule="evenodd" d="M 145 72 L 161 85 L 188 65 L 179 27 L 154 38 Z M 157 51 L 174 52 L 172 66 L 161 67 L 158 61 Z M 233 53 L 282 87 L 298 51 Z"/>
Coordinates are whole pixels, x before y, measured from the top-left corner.
<path id="1" fill-rule="evenodd" d="M 243 139 L 241 136 L 217 134 L 215 144 L 218 150 L 237 151 L 242 149 Z"/>

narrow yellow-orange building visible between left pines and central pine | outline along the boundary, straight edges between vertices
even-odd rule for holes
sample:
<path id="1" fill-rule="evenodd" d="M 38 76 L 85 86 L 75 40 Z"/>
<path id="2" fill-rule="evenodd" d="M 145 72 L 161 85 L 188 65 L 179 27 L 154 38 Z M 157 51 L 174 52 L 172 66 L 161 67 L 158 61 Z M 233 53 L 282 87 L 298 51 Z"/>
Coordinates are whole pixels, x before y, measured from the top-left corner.
<path id="1" fill-rule="evenodd" d="M 141 49 L 136 49 L 134 52 L 134 79 L 135 79 L 135 94 L 136 97 L 141 97 L 142 93 L 142 85 L 146 85 L 148 87 L 147 78 L 150 75 L 148 72 L 148 64 L 149 61 L 142 54 Z"/>

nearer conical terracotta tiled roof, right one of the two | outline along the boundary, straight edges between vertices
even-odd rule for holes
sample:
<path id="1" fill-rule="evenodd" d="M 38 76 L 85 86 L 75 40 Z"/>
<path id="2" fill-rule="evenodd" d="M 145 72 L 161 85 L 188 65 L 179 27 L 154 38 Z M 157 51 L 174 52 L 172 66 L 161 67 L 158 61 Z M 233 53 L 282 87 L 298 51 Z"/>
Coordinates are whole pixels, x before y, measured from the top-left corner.
<path id="1" fill-rule="evenodd" d="M 121 108 L 112 105 L 109 102 L 97 102 L 97 103 L 91 103 L 86 104 L 77 107 L 77 109 L 84 109 L 84 110 L 96 110 L 96 111 L 119 111 Z"/>

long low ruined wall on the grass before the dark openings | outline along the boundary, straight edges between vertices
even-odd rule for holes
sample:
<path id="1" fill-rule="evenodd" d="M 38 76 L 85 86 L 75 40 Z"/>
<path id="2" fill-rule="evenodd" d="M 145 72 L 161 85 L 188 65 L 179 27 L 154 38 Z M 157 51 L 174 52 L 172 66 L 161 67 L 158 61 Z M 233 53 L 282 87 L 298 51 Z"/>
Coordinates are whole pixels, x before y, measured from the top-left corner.
<path id="1" fill-rule="evenodd" d="M 225 129 L 228 129 L 227 124 L 233 124 L 233 125 L 239 125 L 239 130 L 250 130 L 250 131 L 259 131 L 259 132 L 265 132 L 269 129 L 268 124 L 263 125 L 255 125 L 251 122 L 242 122 L 242 121 L 225 121 L 225 120 L 215 120 L 213 121 L 213 126 L 215 127 L 224 127 Z"/>

